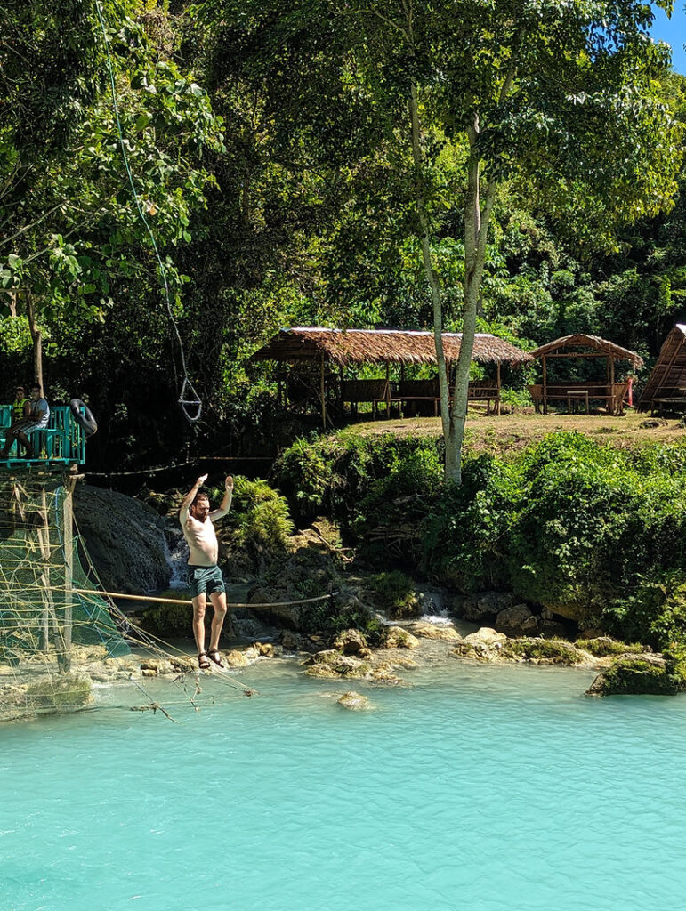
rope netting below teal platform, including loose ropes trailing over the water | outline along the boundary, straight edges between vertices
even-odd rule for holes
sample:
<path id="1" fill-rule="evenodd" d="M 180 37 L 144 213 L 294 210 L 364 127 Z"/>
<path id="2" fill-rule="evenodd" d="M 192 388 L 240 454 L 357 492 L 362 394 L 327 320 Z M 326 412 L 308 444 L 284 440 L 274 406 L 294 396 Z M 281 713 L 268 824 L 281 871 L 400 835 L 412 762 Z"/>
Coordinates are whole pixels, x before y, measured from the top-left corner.
<path id="1" fill-rule="evenodd" d="M 140 629 L 100 590 L 65 483 L 72 478 L 0 475 L 0 722 L 93 706 L 92 680 L 127 681 L 144 700 L 129 708 L 175 721 L 140 680 L 156 662 L 175 675 L 180 703 L 198 711 L 200 674 L 189 656 Z M 153 658 L 132 655 L 129 641 Z M 255 693 L 226 671 L 214 677 L 224 689 Z"/>

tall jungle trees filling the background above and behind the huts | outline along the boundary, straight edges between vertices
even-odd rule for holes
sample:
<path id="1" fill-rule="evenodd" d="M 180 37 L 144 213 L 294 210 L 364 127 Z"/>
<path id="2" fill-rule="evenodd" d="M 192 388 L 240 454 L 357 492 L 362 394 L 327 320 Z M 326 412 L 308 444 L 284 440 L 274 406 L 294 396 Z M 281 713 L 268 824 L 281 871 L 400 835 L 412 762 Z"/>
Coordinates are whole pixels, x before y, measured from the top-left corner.
<path id="1" fill-rule="evenodd" d="M 122 469 L 273 436 L 246 358 L 289 324 L 466 352 L 585 331 L 650 367 L 686 318 L 686 79 L 656 5 L 0 0 L 5 398 L 41 344 L 49 397 L 97 414 L 91 466 Z"/>

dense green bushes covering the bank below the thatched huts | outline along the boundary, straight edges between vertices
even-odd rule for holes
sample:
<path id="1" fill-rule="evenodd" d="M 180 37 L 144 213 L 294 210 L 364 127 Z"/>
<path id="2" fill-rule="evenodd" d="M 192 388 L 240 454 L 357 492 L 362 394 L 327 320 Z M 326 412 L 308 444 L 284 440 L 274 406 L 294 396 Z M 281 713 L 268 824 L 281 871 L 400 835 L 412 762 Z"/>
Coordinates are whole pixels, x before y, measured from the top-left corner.
<path id="1" fill-rule="evenodd" d="M 686 644 L 683 443 L 627 450 L 560 433 L 468 459 L 461 487 L 444 486 L 425 438 L 300 441 L 281 466 L 301 515 L 330 510 L 368 559 L 395 556 L 466 593 L 511 590 L 626 641 Z"/>

